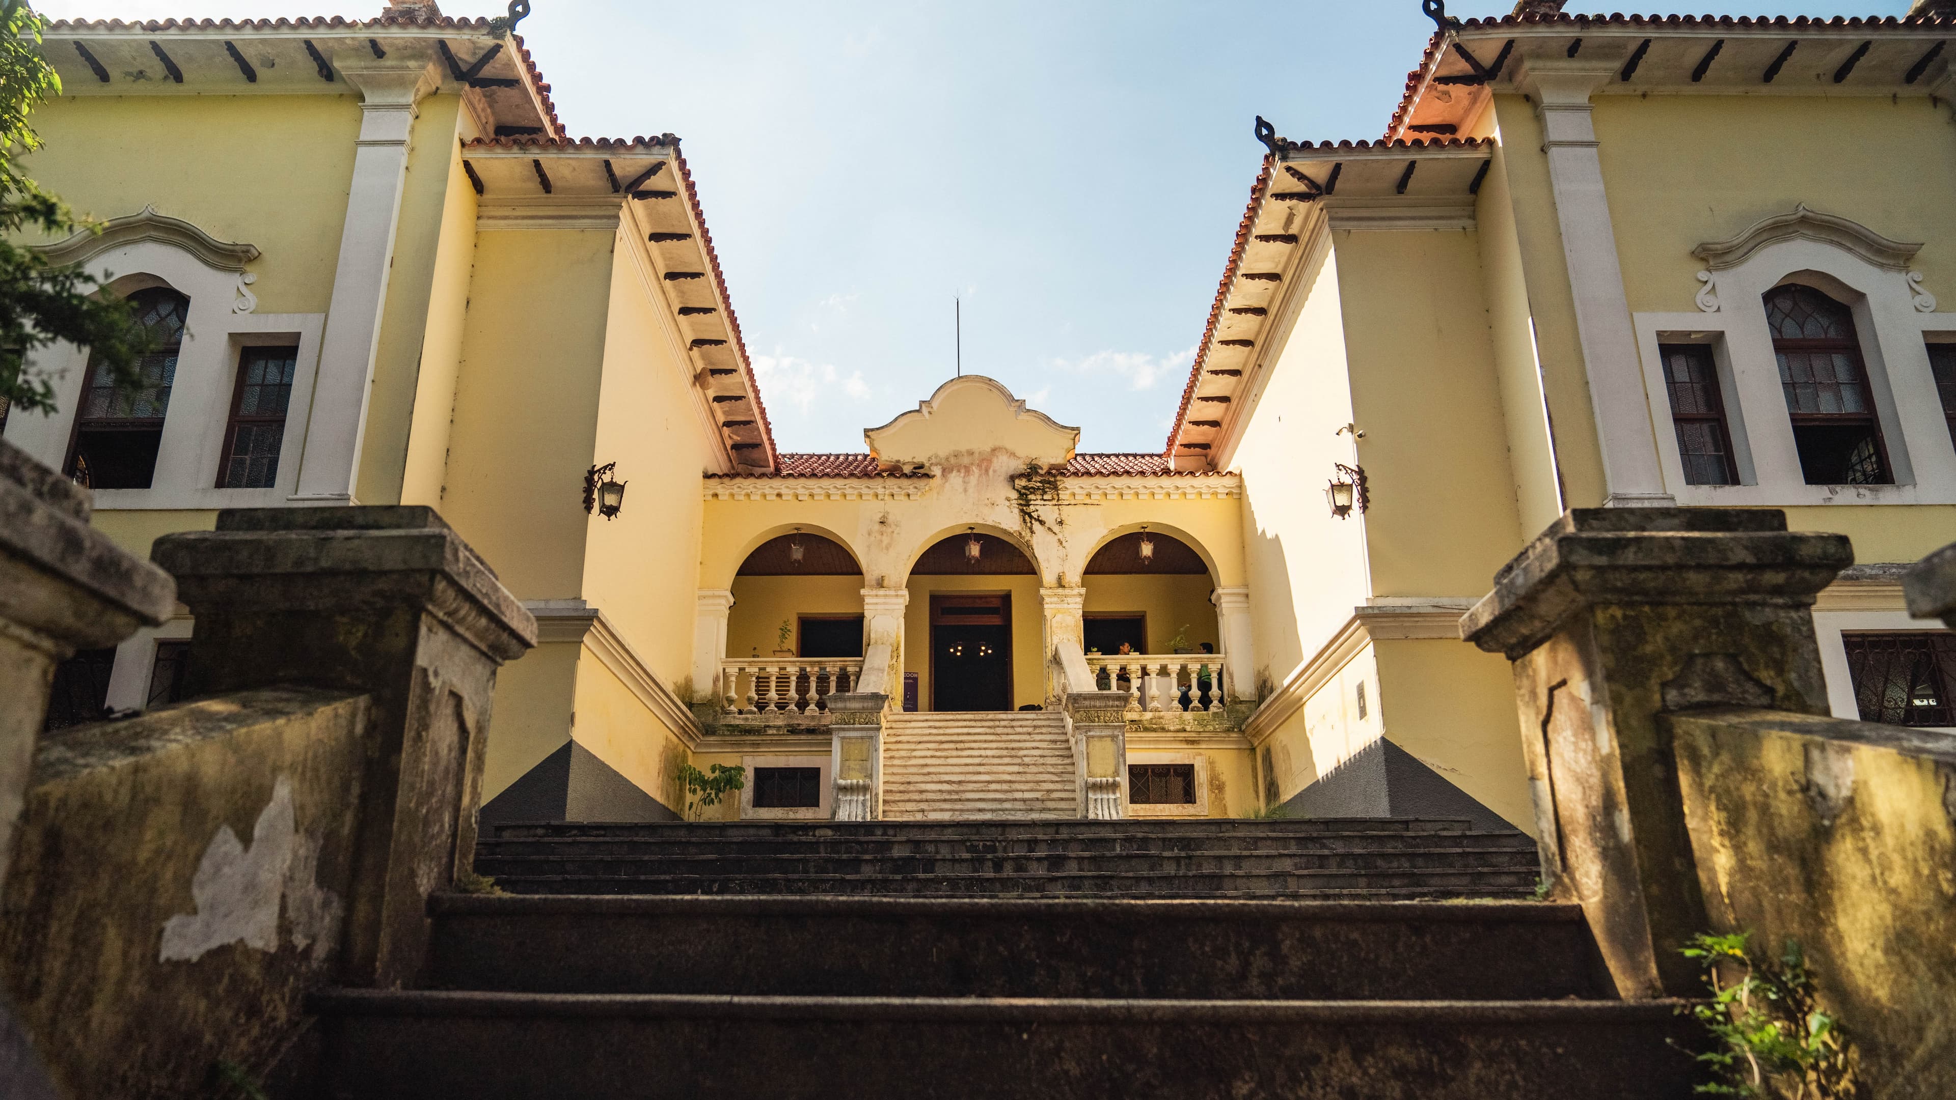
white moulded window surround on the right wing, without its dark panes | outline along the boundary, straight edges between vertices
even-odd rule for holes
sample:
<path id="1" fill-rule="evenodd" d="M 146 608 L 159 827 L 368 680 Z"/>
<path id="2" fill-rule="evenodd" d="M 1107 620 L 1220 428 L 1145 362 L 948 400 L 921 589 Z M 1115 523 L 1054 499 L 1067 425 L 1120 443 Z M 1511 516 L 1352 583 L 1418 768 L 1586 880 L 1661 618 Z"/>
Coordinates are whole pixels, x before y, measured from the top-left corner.
<path id="1" fill-rule="evenodd" d="M 1807 485 L 1801 477 L 1762 301 L 1782 283 L 1811 285 L 1854 311 L 1895 485 Z M 1956 504 L 1956 447 L 1929 371 L 1929 342 L 1956 332 L 1956 313 L 1925 313 L 1923 301 L 1933 299 L 1907 272 L 1833 242 L 1792 238 L 1719 270 L 1700 295 L 1708 313 L 1631 315 L 1665 488 L 1692 506 Z M 1713 346 L 1741 485 L 1684 483 L 1661 344 Z"/>

